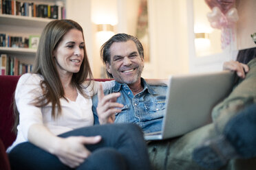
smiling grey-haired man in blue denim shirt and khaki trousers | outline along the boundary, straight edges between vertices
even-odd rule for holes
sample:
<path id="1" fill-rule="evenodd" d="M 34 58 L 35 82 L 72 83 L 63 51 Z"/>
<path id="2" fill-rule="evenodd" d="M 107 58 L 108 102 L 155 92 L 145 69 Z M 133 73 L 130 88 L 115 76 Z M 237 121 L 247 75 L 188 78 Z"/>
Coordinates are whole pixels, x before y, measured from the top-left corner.
<path id="1" fill-rule="evenodd" d="M 131 122 L 140 125 L 145 132 L 160 130 L 167 87 L 149 86 L 140 77 L 144 60 L 142 45 L 138 39 L 127 34 L 116 34 L 105 42 L 101 48 L 101 56 L 107 74 L 114 77 L 116 84 L 111 90 L 105 91 L 105 94 L 111 93 L 110 95 L 104 95 L 99 90 L 98 97 L 94 97 L 95 123 Z M 225 62 L 224 69 L 236 71 L 242 78 L 249 70 L 246 64 L 235 61 Z M 122 94 L 118 99 L 114 97 L 117 92 Z M 178 138 L 149 143 L 152 165 L 156 169 L 200 169 L 192 160 L 192 152 L 205 138 L 217 135 L 214 126 L 211 123 Z M 194 156 L 196 153 L 193 152 Z M 199 153 L 196 158 L 202 160 L 201 155 Z"/>

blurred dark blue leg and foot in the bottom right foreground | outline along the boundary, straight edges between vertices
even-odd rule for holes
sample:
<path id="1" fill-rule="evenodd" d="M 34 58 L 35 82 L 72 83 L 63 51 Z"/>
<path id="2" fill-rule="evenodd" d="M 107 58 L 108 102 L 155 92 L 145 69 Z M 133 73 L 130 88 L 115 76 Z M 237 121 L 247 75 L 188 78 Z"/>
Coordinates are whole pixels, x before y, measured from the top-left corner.
<path id="1" fill-rule="evenodd" d="M 231 159 L 255 157 L 255 143 L 256 104 L 252 104 L 237 112 L 222 133 L 196 147 L 193 159 L 206 169 L 219 169 Z"/>

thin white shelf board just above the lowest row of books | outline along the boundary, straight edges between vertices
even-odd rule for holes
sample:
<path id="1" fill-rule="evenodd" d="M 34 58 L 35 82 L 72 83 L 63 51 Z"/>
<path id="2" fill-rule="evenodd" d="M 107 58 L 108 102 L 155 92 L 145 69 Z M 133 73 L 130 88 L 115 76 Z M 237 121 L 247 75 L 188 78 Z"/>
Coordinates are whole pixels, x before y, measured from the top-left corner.
<path id="1" fill-rule="evenodd" d="M 0 53 L 22 54 L 22 55 L 36 55 L 36 49 L 29 48 L 14 48 L 14 47 L 0 47 Z"/>

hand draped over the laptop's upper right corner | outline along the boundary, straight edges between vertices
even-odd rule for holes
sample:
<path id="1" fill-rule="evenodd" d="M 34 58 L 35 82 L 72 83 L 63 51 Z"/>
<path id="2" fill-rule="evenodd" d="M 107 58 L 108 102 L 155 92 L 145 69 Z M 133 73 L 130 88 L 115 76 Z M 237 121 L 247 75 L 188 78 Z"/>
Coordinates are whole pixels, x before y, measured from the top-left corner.
<path id="1" fill-rule="evenodd" d="M 234 61 L 234 60 L 224 62 L 223 69 L 230 70 L 230 71 L 236 71 L 237 75 L 242 78 L 244 78 L 245 73 L 247 73 L 249 71 L 248 65 L 242 64 L 242 63 Z"/>

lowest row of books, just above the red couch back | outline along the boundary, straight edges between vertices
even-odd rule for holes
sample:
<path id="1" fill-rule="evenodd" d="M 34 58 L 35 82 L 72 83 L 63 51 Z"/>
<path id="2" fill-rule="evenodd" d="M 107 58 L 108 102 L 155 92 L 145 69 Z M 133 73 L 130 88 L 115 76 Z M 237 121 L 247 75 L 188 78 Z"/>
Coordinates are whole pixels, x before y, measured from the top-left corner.
<path id="1" fill-rule="evenodd" d="M 0 75 L 22 75 L 32 71 L 32 64 L 24 64 L 17 57 L 5 53 L 0 55 Z"/>

